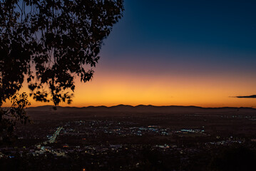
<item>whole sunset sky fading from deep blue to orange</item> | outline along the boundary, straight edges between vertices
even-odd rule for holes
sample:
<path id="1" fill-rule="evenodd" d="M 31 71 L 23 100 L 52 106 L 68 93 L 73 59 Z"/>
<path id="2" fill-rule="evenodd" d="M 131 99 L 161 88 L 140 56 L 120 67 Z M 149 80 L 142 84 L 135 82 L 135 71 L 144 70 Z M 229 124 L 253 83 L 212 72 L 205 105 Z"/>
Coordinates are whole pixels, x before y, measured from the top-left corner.
<path id="1" fill-rule="evenodd" d="M 255 6 L 253 0 L 125 0 L 93 81 L 76 81 L 71 106 L 256 108 L 256 98 L 233 97 L 256 94 Z"/>

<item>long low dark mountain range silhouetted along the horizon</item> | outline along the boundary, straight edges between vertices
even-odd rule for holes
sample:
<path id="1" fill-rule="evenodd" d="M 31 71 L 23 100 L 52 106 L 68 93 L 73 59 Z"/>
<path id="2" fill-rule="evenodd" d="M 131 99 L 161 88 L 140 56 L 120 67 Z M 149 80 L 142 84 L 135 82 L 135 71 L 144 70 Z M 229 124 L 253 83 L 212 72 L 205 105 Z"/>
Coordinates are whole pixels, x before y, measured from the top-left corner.
<path id="1" fill-rule="evenodd" d="M 54 106 L 44 105 L 39 107 L 27 108 L 28 112 L 36 111 L 54 111 Z M 197 106 L 155 106 L 155 105 L 115 105 L 106 106 L 88 106 L 83 108 L 76 107 L 56 107 L 58 112 L 83 112 L 83 113 L 256 113 L 255 108 L 202 108 Z"/>

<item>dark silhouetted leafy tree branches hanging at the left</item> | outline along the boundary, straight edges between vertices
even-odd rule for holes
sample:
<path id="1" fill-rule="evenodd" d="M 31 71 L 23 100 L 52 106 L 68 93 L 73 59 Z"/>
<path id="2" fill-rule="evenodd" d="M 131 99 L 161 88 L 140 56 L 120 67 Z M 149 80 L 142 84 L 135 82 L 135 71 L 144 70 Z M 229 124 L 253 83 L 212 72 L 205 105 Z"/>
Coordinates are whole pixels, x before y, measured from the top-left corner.
<path id="1" fill-rule="evenodd" d="M 123 0 L 0 1 L 0 129 L 27 120 L 24 79 L 35 100 L 71 103 L 74 78 L 91 80 L 122 12 Z M 6 100 L 11 108 L 1 108 Z"/>

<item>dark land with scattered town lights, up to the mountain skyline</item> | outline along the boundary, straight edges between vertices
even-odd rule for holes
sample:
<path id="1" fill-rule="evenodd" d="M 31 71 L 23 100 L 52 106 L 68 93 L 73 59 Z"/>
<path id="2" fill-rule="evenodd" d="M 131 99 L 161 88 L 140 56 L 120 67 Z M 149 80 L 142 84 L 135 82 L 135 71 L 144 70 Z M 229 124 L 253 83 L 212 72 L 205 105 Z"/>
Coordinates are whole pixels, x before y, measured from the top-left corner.
<path id="1" fill-rule="evenodd" d="M 16 126 L 14 145 L 0 146 L 4 165 L 13 166 L 20 155 L 19 163 L 31 170 L 215 170 L 227 162 L 239 165 L 223 170 L 252 170 L 247 166 L 255 163 L 255 108 L 46 105 L 26 110 L 32 122 Z"/>

